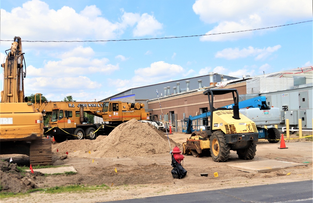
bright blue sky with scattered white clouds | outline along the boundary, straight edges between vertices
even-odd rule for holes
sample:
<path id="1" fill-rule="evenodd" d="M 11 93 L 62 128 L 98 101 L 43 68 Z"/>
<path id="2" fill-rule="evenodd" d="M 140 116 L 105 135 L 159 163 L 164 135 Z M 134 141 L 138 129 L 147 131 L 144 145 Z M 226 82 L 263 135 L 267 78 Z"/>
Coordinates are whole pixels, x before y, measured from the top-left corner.
<path id="1" fill-rule="evenodd" d="M 252 77 L 313 62 L 312 0 L 0 0 L 0 8 L 0 40 L 10 40 L 0 41 L 1 63 L 21 37 L 25 96 L 52 101 L 99 101 L 209 72 Z M 193 35 L 202 36 L 171 38 Z"/>

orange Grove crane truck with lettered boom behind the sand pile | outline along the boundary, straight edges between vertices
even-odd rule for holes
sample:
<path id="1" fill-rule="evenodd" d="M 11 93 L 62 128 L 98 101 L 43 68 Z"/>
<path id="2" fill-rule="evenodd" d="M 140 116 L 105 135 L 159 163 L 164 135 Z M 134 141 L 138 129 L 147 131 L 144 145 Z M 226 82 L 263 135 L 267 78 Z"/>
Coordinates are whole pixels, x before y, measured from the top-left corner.
<path id="1" fill-rule="evenodd" d="M 142 103 L 110 102 L 60 102 L 37 104 L 36 108 L 51 113 L 44 134 L 54 136 L 56 142 L 67 139 L 95 140 L 98 135 L 109 134 L 116 126 L 131 119 L 149 120 Z M 102 124 L 89 123 L 85 113 L 101 117 Z"/>

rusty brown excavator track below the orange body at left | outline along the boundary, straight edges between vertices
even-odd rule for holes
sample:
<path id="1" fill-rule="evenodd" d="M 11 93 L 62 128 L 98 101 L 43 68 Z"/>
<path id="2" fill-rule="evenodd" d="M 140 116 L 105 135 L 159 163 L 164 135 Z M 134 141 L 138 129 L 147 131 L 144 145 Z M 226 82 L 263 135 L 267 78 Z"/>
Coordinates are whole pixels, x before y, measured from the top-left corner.
<path id="1" fill-rule="evenodd" d="M 52 165 L 51 139 L 33 140 L 30 144 L 29 157 L 31 165 Z"/>

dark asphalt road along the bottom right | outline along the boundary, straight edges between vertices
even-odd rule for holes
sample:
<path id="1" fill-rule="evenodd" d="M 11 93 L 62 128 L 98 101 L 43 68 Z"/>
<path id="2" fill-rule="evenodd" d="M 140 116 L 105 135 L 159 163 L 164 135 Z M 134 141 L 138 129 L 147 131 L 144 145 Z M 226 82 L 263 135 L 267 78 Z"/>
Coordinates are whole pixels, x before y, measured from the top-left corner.
<path id="1" fill-rule="evenodd" d="M 144 190 L 144 189 L 143 189 Z M 300 181 L 258 185 L 223 190 L 210 190 L 177 195 L 164 195 L 140 199 L 109 201 L 114 203 L 141 203 L 141 202 L 168 202 L 168 203 L 208 203 L 208 202 L 252 202 L 252 203 L 287 203 L 287 202 L 313 202 L 313 181 Z M 106 202 L 108 203 L 108 202 Z"/>

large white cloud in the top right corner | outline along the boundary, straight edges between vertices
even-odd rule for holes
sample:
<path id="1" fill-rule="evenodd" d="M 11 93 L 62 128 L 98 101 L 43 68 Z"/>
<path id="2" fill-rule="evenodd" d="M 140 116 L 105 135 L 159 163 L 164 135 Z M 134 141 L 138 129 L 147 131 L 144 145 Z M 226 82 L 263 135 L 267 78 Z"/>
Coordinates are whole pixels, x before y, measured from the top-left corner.
<path id="1" fill-rule="evenodd" d="M 197 0 L 193 11 L 204 23 L 217 23 L 206 34 L 225 33 L 280 25 L 311 19 L 312 1 L 308 0 Z M 273 29 L 271 29 L 273 30 Z M 267 30 L 258 31 L 258 33 Z M 203 36 L 202 41 L 225 41 L 249 37 L 255 31 Z"/>

